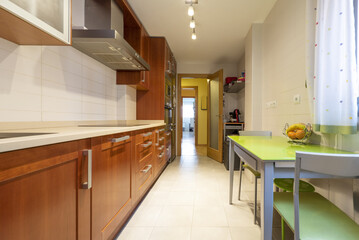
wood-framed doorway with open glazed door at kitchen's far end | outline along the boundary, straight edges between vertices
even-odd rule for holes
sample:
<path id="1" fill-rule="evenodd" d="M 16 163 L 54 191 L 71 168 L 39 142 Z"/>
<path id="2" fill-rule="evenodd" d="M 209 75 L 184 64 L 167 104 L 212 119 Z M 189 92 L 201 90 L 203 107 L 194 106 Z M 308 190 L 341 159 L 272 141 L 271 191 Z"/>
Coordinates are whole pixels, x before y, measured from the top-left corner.
<path id="1" fill-rule="evenodd" d="M 191 81 L 195 80 L 195 81 Z M 202 82 L 202 83 L 200 83 Z M 195 155 L 209 156 L 210 158 L 222 162 L 222 136 L 223 136 L 223 70 L 213 74 L 178 74 L 177 96 L 179 106 L 177 108 L 177 155 L 182 155 L 182 149 L 186 146 L 182 144 L 183 134 L 183 103 L 182 88 L 196 85 L 198 87 L 198 102 L 196 110 L 198 113 L 198 126 L 194 132 L 198 131 L 195 149 L 200 150 Z M 202 86 L 202 87 L 200 87 Z M 200 88 L 202 90 L 200 90 Z M 187 133 L 185 133 L 187 134 Z M 189 135 L 189 134 L 187 134 Z M 187 146 L 186 146 L 187 147 Z"/>

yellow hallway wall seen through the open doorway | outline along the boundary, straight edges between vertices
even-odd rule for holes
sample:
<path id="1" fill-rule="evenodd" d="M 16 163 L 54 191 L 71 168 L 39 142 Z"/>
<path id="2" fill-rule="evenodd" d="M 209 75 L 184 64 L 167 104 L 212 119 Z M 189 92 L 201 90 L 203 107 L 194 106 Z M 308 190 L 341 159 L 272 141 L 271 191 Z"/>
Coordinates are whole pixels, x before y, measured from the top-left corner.
<path id="1" fill-rule="evenodd" d="M 205 78 L 182 78 L 182 87 L 198 87 L 198 145 L 207 145 L 207 110 L 201 109 L 201 99 L 207 96 L 207 79 Z"/>

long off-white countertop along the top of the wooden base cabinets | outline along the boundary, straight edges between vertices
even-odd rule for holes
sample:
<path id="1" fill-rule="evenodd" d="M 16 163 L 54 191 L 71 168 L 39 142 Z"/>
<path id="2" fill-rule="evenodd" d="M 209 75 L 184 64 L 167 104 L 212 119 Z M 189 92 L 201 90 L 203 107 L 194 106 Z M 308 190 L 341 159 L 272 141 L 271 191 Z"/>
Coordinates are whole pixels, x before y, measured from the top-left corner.
<path id="1" fill-rule="evenodd" d="M 123 124 L 133 126 L 115 126 Z M 81 127 L 81 125 L 91 126 Z M 94 127 L 92 125 L 101 126 Z M 109 125 L 110 127 L 104 125 Z M 24 137 L 0 138 L 0 153 L 160 126 L 165 126 L 165 123 L 157 120 L 0 123 L 0 136 L 3 133 L 51 133 Z"/>

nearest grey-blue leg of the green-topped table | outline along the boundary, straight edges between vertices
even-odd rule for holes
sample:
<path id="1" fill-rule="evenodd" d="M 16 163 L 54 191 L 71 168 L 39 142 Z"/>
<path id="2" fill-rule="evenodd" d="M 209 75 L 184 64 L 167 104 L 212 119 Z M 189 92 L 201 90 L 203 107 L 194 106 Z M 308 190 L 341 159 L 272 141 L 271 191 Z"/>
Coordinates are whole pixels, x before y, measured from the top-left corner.
<path id="1" fill-rule="evenodd" d="M 261 167 L 261 231 L 262 240 L 272 240 L 274 163 L 262 162 Z"/>

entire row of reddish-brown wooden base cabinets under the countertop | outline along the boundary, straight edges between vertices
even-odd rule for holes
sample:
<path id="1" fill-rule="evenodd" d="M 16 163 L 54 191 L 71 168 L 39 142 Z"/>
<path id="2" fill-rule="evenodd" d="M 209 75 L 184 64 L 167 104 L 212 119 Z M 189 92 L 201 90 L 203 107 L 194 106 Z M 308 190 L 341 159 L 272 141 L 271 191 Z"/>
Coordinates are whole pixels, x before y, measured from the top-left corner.
<path id="1" fill-rule="evenodd" d="M 166 166 L 158 130 L 0 153 L 0 239 L 113 239 Z"/>

